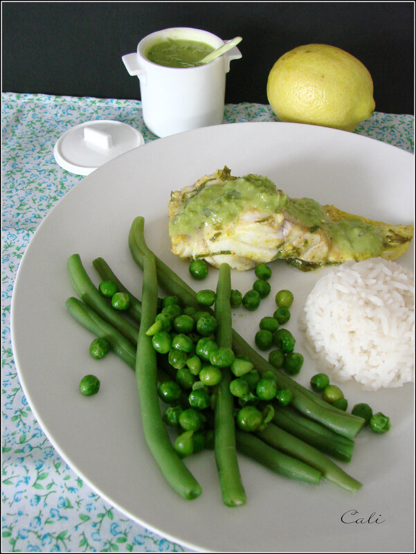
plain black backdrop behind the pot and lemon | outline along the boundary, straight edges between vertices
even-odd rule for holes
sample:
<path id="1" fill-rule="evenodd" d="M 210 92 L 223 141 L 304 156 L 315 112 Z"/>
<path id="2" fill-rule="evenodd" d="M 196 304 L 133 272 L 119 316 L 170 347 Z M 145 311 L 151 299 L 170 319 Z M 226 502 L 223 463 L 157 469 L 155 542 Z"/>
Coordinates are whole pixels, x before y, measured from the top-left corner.
<path id="1" fill-rule="evenodd" d="M 278 57 L 311 42 L 343 48 L 374 81 L 376 110 L 414 114 L 413 2 L 3 2 L 2 89 L 140 98 L 122 55 L 155 30 L 243 37 L 226 102 L 267 103 Z"/>

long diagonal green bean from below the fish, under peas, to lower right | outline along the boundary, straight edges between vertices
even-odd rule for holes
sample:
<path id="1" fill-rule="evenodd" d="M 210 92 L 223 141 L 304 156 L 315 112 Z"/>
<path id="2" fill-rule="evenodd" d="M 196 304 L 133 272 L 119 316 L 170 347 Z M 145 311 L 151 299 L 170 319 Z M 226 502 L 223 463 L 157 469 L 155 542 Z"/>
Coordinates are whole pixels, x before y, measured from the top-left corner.
<path id="1" fill-rule="evenodd" d="M 144 238 L 144 223 L 145 220 L 143 217 L 136 217 L 129 231 L 129 248 L 132 257 L 136 264 L 142 268 L 144 253 L 150 252 Z M 181 299 L 183 305 L 194 306 L 199 309 L 196 293 L 185 281 L 157 257 L 156 267 L 159 283 L 167 294 L 175 294 Z M 209 308 L 206 307 L 206 310 L 209 310 Z M 300 413 L 307 415 L 307 417 L 320 422 L 322 425 L 348 438 L 354 438 L 363 427 L 363 418 L 334 408 L 334 406 L 328 404 L 311 391 L 308 391 L 305 387 L 301 386 L 287 375 L 284 375 L 281 371 L 273 368 L 271 364 L 251 348 L 251 346 L 249 346 L 235 331 L 233 331 L 233 350 L 235 355 L 247 356 L 251 359 L 255 368 L 260 372 L 273 370 L 276 375 L 278 386 L 290 388 L 293 394 L 292 405 L 300 411 Z"/>

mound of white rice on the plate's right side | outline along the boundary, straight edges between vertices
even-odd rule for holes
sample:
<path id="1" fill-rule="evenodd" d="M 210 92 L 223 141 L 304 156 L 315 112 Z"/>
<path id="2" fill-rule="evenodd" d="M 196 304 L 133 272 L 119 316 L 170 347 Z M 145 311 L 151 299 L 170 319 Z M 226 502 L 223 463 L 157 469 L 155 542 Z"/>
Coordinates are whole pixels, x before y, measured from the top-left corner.
<path id="1" fill-rule="evenodd" d="M 319 371 L 364 388 L 415 378 L 413 272 L 391 260 L 346 262 L 318 280 L 300 325 Z"/>

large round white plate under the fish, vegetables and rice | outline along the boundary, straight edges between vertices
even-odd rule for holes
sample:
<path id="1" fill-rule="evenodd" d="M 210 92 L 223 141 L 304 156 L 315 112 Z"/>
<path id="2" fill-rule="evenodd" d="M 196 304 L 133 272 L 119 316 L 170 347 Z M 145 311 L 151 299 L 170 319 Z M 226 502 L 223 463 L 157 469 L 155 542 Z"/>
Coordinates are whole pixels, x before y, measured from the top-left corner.
<path id="1" fill-rule="evenodd" d="M 413 156 L 347 132 L 287 123 L 236 123 L 170 136 L 112 160 L 76 185 L 48 214 L 21 262 L 12 302 L 12 342 L 19 378 L 35 417 L 51 443 L 84 481 L 128 517 L 197 551 L 410 551 L 413 546 L 413 386 L 377 393 L 343 385 L 350 408 L 368 402 L 390 415 L 385 436 L 363 431 L 350 465 L 363 482 L 355 494 L 323 482 L 289 481 L 240 458 L 247 503 L 221 503 L 212 452 L 187 458 L 203 488 L 185 501 L 172 492 L 143 440 L 134 375 L 116 356 L 98 362 L 89 335 L 66 312 L 75 294 L 66 258 L 79 253 L 98 284 L 91 261 L 102 256 L 141 297 L 141 271 L 127 246 L 130 225 L 145 216 L 147 242 L 195 287 L 215 288 L 217 272 L 191 283 L 188 264 L 170 252 L 170 191 L 224 165 L 234 175 L 270 177 L 291 197 L 391 223 L 413 222 Z M 413 267 L 413 248 L 399 259 Z M 298 315 L 325 269 L 304 274 L 275 262 L 273 291 L 295 294 L 287 325 L 305 354 L 298 381 L 308 386 L 317 368 L 300 341 Z M 253 271 L 233 273 L 233 287 L 251 287 Z M 257 312 L 235 312 L 235 328 L 253 343 L 258 321 L 271 314 L 273 294 Z M 87 373 L 100 393 L 83 397 Z M 342 464 L 340 464 L 342 465 Z M 356 517 L 352 512 L 356 510 Z M 367 523 L 345 523 L 362 518 Z M 378 521 L 375 521 L 375 520 Z"/>

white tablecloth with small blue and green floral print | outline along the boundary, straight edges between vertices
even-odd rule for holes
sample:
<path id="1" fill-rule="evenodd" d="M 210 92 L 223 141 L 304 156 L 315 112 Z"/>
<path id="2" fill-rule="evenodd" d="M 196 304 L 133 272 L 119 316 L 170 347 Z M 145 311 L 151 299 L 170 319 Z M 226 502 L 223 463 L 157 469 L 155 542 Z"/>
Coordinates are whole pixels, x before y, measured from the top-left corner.
<path id="1" fill-rule="evenodd" d="M 55 452 L 21 390 L 10 340 L 10 305 L 19 262 L 40 222 L 79 175 L 55 162 L 68 129 L 96 119 L 136 127 L 145 142 L 141 102 L 3 93 L 2 202 L 2 551 L 183 552 L 185 549 L 111 507 Z M 226 105 L 224 124 L 274 121 L 269 105 Z M 356 133 L 414 151 L 414 116 L 375 112 Z"/>

